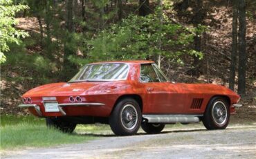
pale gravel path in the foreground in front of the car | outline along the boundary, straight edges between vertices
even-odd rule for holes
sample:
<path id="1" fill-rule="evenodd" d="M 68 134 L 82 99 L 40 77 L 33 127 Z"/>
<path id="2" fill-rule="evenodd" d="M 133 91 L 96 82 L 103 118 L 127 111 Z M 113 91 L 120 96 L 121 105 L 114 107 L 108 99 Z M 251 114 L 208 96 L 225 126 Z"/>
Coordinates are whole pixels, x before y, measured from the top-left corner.
<path id="1" fill-rule="evenodd" d="M 11 154 L 11 155 L 10 155 Z M 1 158 L 254 158 L 256 126 L 103 136 L 84 144 L 16 151 Z"/>

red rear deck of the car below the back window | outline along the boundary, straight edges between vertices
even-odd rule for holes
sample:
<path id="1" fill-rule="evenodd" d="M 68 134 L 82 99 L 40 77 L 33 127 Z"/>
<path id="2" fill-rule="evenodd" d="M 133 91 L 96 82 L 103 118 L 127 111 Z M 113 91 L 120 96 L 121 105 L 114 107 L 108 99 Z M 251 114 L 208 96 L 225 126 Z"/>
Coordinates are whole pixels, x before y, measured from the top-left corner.
<path id="1" fill-rule="evenodd" d="M 22 97 L 40 96 L 64 96 L 64 95 L 83 95 L 93 86 L 98 86 L 102 82 L 77 82 L 77 83 L 54 83 L 45 84 L 27 91 Z"/>

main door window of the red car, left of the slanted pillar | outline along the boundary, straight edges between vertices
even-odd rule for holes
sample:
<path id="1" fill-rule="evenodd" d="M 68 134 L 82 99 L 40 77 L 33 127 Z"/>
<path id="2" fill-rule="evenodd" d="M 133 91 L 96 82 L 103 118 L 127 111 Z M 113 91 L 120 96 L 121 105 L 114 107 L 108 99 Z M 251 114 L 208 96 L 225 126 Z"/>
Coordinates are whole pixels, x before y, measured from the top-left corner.
<path id="1" fill-rule="evenodd" d="M 159 82 L 159 79 L 154 71 L 152 64 L 140 65 L 140 82 Z"/>

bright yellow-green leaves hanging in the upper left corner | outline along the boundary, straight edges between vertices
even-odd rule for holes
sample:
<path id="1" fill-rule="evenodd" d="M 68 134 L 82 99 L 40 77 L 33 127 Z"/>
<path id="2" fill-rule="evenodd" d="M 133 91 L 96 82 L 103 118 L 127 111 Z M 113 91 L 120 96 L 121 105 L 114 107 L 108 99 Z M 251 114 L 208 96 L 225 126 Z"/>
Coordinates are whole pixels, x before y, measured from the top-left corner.
<path id="1" fill-rule="evenodd" d="M 13 5 L 11 0 L 0 0 L 0 64 L 6 62 L 3 53 L 10 50 L 9 43 L 20 44 L 21 38 L 28 37 L 27 32 L 14 27 L 17 24 L 15 14 L 27 8 L 21 4 Z"/>

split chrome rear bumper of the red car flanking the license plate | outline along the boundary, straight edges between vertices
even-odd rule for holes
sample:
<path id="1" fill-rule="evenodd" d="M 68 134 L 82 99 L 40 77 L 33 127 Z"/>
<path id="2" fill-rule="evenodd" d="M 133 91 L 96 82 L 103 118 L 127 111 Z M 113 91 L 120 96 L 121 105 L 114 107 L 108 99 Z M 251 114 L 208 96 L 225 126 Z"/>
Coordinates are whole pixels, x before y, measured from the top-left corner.
<path id="1" fill-rule="evenodd" d="M 61 103 L 58 104 L 58 108 L 62 115 L 66 115 L 66 112 L 62 109 L 64 106 L 104 106 L 104 103 L 93 103 L 93 102 L 86 102 L 86 103 Z M 19 108 L 31 108 L 33 107 L 39 116 L 42 116 L 42 111 L 40 110 L 39 105 L 37 104 L 19 104 Z"/>

